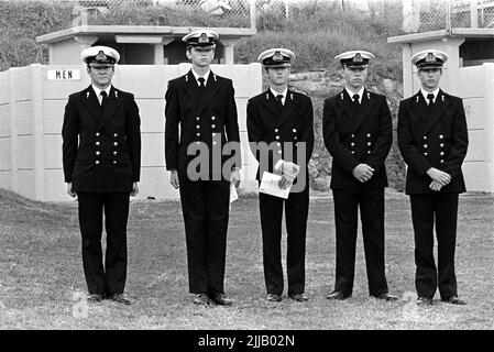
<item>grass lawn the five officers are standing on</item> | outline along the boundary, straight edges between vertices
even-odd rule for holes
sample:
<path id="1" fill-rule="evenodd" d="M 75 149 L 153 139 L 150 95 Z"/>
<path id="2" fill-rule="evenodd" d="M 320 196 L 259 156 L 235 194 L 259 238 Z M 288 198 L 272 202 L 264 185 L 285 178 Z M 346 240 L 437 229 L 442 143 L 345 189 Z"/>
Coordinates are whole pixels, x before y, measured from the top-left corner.
<path id="1" fill-rule="evenodd" d="M 429 308 L 415 305 L 409 204 L 396 193 L 386 195 L 386 271 L 389 292 L 400 300 L 369 297 L 361 235 L 353 296 L 341 302 L 325 298 L 334 279 L 328 196 L 314 195 L 310 202 L 308 302 L 264 300 L 257 200 L 250 197 L 235 201 L 230 216 L 226 290 L 234 305 L 194 306 L 179 202 L 147 200 L 131 204 L 127 293 L 133 305 L 106 300 L 80 317 L 75 295 L 85 293 L 86 284 L 77 205 L 34 202 L 0 189 L 0 329 L 494 329 L 493 196 L 468 194 L 460 200 L 457 277 L 469 305 L 436 300 Z"/>

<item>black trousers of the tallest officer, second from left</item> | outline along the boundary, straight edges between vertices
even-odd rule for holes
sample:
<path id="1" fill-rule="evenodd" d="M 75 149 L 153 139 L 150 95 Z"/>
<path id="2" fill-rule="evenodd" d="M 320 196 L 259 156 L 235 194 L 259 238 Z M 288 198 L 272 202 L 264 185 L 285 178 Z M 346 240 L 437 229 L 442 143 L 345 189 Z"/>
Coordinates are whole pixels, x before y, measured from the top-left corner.
<path id="1" fill-rule="evenodd" d="M 179 177 L 189 293 L 224 293 L 230 183 Z"/>

